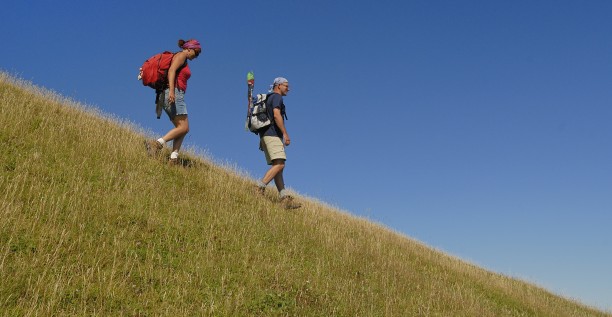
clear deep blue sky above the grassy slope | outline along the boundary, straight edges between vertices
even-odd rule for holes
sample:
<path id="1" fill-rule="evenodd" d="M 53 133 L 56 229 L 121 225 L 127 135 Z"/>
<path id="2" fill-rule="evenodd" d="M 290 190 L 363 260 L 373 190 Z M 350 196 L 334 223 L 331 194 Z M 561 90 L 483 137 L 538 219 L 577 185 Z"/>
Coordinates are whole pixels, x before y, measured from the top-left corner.
<path id="1" fill-rule="evenodd" d="M 284 76 L 291 188 L 612 310 L 610 1 L 23 0 L 2 11 L 1 69 L 156 136 L 171 125 L 155 119 L 138 68 L 197 38 L 186 145 L 253 177 L 266 166 L 244 131 L 246 72 L 257 92 Z"/>

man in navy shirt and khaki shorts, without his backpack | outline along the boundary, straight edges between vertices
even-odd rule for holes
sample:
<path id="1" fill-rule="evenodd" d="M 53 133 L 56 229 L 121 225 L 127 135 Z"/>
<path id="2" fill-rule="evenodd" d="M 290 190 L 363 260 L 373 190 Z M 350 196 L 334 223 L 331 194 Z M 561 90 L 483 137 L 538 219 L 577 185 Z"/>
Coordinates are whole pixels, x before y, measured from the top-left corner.
<path id="1" fill-rule="evenodd" d="M 283 170 L 285 169 L 285 146 L 291 144 L 289 133 L 285 128 L 285 104 L 283 96 L 289 92 L 289 82 L 283 77 L 274 79 L 272 83 L 271 94 L 266 99 L 266 110 L 268 117 L 271 118 L 272 124 L 262 131 L 259 131 L 259 147 L 264 151 L 266 162 L 270 169 L 264 177 L 257 182 L 257 191 L 262 194 L 266 190 L 266 186 L 274 180 L 276 189 L 278 190 L 281 204 L 285 209 L 296 209 L 302 205 L 295 201 L 285 189 L 285 181 L 283 179 Z"/>

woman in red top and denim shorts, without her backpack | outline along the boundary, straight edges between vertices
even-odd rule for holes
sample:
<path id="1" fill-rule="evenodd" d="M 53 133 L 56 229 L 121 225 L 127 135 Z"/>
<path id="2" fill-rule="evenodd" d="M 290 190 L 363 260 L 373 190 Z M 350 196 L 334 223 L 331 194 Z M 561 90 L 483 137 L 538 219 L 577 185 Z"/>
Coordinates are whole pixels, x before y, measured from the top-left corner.
<path id="1" fill-rule="evenodd" d="M 159 96 L 163 100 L 163 109 L 168 114 L 168 118 L 174 128 L 166 135 L 157 140 L 147 140 L 145 145 L 149 155 L 155 156 L 164 148 L 164 145 L 172 141 L 172 153 L 170 154 L 169 165 L 178 164 L 178 153 L 185 135 L 189 132 L 189 120 L 187 119 L 187 104 L 185 103 L 185 91 L 187 81 L 191 77 L 191 70 L 187 60 L 193 60 L 202 52 L 200 42 L 195 39 L 179 40 L 180 52 L 174 54 L 172 64 L 168 69 L 168 88 Z"/>

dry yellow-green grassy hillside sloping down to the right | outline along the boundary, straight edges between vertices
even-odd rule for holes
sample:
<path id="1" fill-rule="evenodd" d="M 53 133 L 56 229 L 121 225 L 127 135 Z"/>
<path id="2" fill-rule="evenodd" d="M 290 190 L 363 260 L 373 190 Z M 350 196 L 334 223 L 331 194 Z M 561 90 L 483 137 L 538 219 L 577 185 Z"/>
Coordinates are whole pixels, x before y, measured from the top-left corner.
<path id="1" fill-rule="evenodd" d="M 2 73 L 0 118 L 0 315 L 608 316 Z"/>

